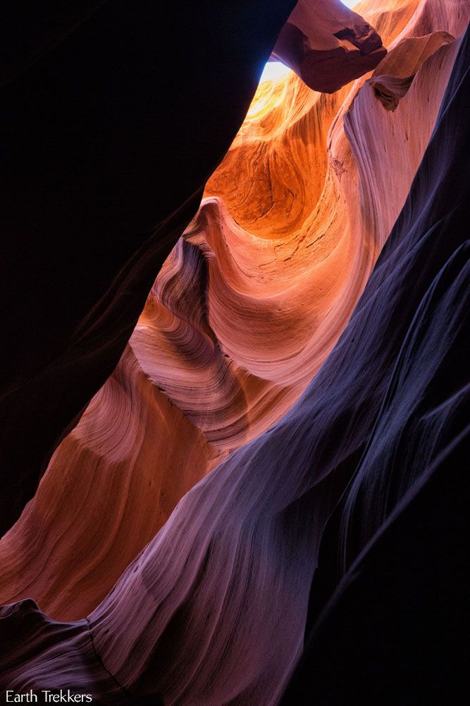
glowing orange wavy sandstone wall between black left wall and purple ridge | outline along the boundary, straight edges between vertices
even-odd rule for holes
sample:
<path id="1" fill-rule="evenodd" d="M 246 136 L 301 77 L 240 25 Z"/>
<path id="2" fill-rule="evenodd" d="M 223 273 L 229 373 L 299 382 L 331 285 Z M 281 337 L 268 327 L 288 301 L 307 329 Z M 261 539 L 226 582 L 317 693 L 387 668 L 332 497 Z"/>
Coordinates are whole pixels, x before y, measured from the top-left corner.
<path id="1" fill-rule="evenodd" d="M 209 181 L 207 192 L 218 187 L 220 196 L 204 199 L 118 368 L 0 542 L 1 602 L 33 597 L 54 618 L 85 616 L 190 487 L 292 407 L 338 340 L 404 203 L 455 51 L 447 44 L 425 61 L 393 114 L 363 81 L 331 97 L 295 76 L 261 85 Z M 273 161 L 287 149 L 299 174 L 293 203 L 308 208 L 291 225 L 281 187 L 266 228 L 248 232 L 232 217 L 233 174 L 245 169 L 240 202 L 260 203 L 264 192 L 250 184 L 266 178 L 266 164 L 274 185 L 292 183 Z M 323 179 L 313 205 L 302 170 L 312 191 Z"/>

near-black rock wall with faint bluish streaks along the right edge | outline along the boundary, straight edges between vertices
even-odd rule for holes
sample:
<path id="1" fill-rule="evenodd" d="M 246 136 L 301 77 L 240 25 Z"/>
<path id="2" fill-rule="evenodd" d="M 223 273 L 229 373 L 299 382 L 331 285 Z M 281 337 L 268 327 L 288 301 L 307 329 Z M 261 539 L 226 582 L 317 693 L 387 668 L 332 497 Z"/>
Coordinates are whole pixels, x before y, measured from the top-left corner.
<path id="1" fill-rule="evenodd" d="M 426 292 L 323 533 L 307 644 L 283 705 L 310 703 L 307 693 L 319 703 L 385 704 L 468 695 L 469 67 L 467 30 L 438 124 L 368 285 L 393 278 L 400 287 L 390 263 L 401 257 L 405 296 L 414 298 L 424 280 Z M 424 277 L 419 267 L 410 276 L 416 261 L 426 263 Z M 366 293 L 358 313 L 373 306 Z"/>

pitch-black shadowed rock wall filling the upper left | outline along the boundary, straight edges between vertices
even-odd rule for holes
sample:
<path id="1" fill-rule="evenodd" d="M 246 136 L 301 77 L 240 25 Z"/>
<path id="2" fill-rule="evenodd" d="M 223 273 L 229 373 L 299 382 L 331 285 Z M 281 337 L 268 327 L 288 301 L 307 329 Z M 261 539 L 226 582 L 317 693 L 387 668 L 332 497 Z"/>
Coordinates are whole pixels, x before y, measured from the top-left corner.
<path id="1" fill-rule="evenodd" d="M 118 363 L 294 4 L 175 0 L 163 28 L 149 0 L 7 2 L 1 530 Z"/>

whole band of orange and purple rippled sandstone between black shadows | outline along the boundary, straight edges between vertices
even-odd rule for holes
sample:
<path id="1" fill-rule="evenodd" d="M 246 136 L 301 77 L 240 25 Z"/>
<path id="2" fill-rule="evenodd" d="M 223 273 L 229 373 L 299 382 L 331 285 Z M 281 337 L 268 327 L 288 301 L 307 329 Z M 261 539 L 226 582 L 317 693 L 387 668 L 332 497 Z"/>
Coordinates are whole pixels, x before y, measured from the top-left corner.
<path id="1" fill-rule="evenodd" d="M 465 320 L 445 311 L 463 301 L 463 233 L 450 215 L 468 186 L 459 155 L 469 48 L 455 37 L 469 6 L 368 1 L 356 8 L 364 23 L 338 4 L 320 9 L 319 37 L 308 4 L 292 13 L 289 24 L 309 39 L 290 61 L 299 76 L 259 85 L 116 370 L 0 542 L 0 601 L 39 606 L 2 614 L 10 640 L 27 626 L 4 650 L 8 686 L 86 686 L 104 703 L 127 693 L 187 706 L 275 704 L 302 654 L 309 600 L 309 630 L 321 639 L 315 620 L 338 583 L 459 436 L 459 414 L 434 410 L 452 407 L 439 361 Z M 337 22 L 359 30 L 345 34 Z M 288 41 L 283 32 L 273 58 L 289 63 L 298 32 L 288 29 Z M 340 83 L 365 75 L 332 95 L 311 90 L 322 78 L 317 39 L 344 68 Z M 337 88 L 328 67 L 322 90 Z M 450 79 L 458 100 L 445 94 Z M 431 237 L 435 222 L 443 227 Z M 450 285 L 435 283 L 441 272 Z M 413 343 L 422 330 L 424 342 Z M 408 369 L 423 371 L 421 386 Z M 437 392 L 415 429 L 410 415 L 421 414 L 428 388 Z M 402 460 L 411 469 L 384 503 L 374 469 L 392 477 L 409 424 L 414 453 Z M 310 592 L 319 551 L 326 578 Z M 344 623 L 332 611 L 336 633 Z M 300 702 L 309 654 L 315 643 L 286 703 Z M 336 666 L 333 681 L 344 674 L 339 657 Z M 312 684 L 326 699 L 321 676 Z"/>

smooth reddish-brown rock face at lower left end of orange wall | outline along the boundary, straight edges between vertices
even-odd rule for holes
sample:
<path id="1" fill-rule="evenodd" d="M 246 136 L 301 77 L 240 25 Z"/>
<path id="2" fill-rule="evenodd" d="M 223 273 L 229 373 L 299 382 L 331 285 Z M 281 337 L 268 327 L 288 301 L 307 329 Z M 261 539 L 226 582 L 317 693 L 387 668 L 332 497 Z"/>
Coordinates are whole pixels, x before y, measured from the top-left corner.
<path id="1" fill-rule="evenodd" d="M 127 348 L 1 540 L 1 602 L 18 594 L 54 617 L 85 616 L 215 455 Z"/>

